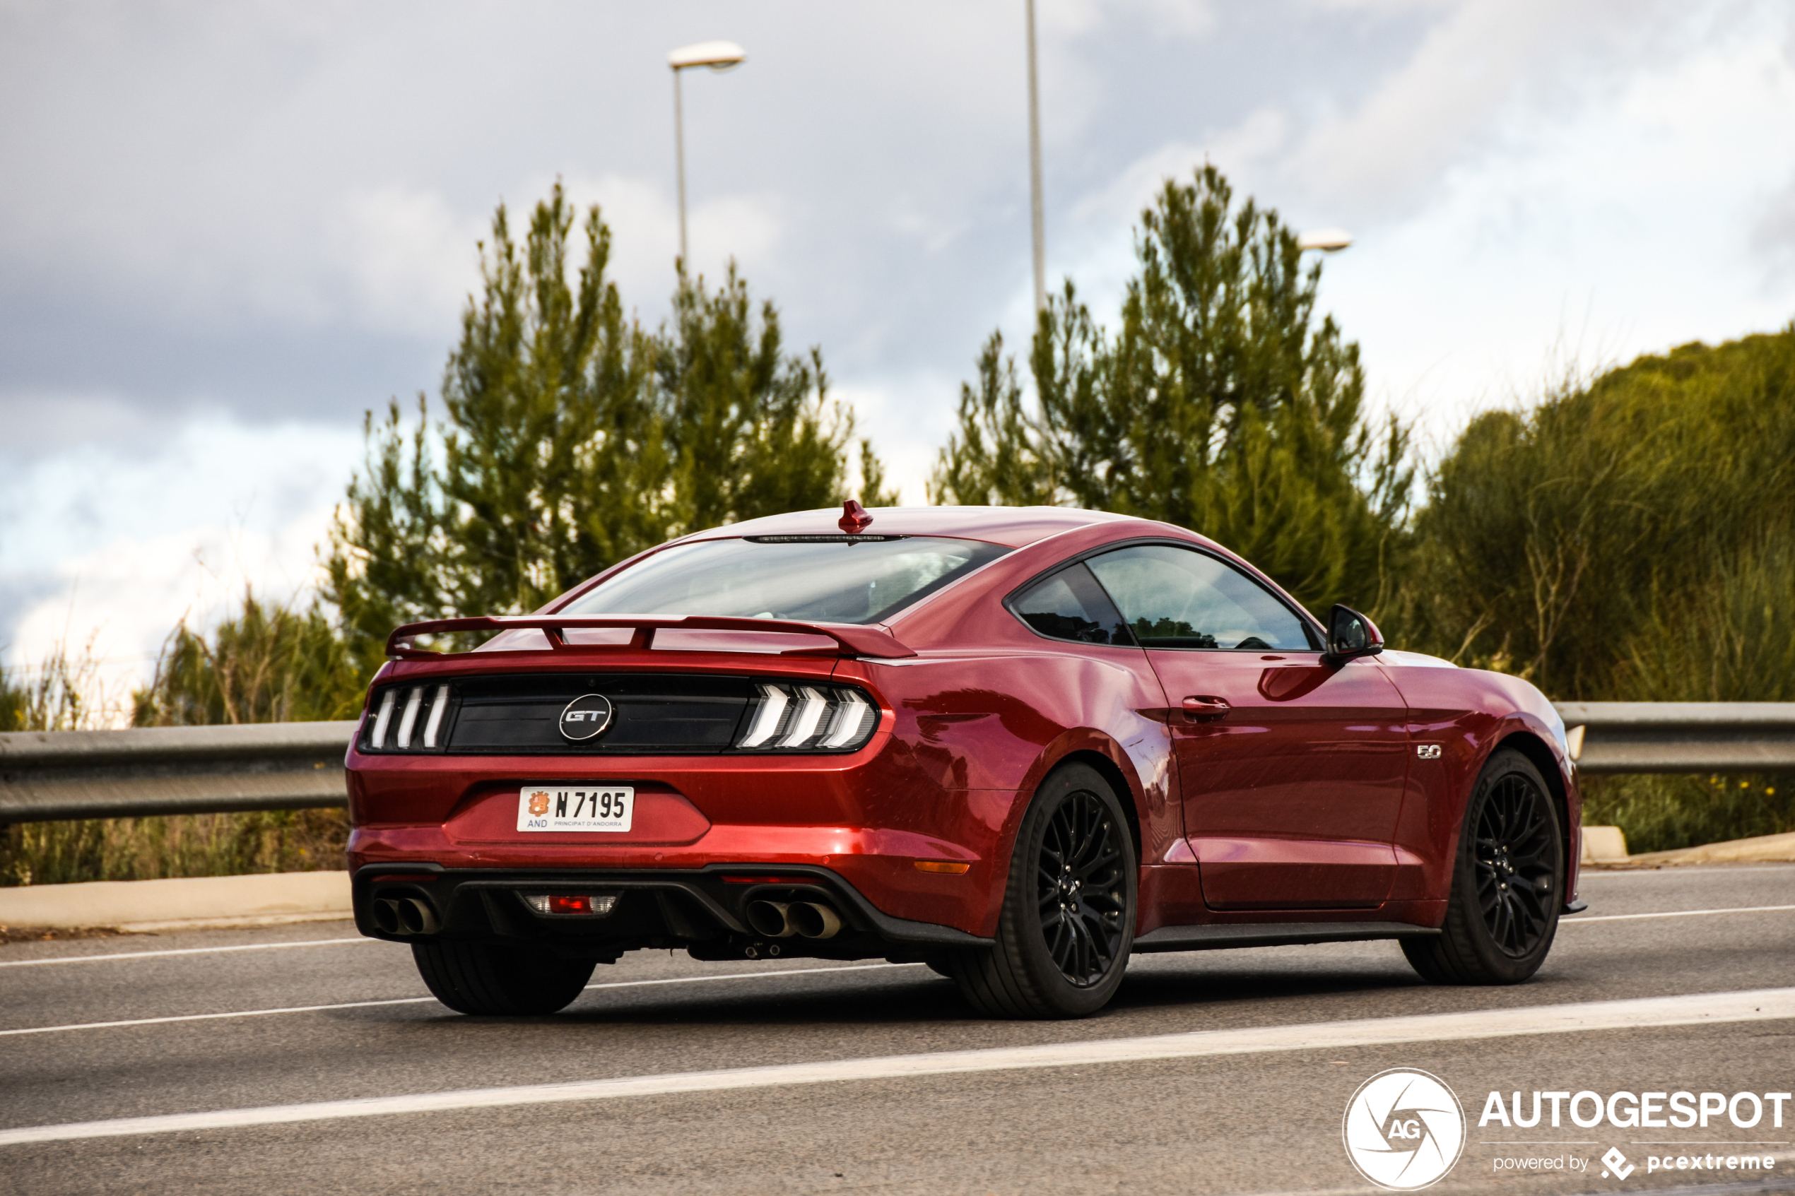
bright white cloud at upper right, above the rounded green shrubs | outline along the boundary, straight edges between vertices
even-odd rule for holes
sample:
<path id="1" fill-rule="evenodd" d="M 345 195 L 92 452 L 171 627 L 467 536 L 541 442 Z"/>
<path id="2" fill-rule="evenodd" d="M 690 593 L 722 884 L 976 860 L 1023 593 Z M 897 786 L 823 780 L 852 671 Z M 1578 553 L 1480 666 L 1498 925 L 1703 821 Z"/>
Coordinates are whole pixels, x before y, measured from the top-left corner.
<path id="1" fill-rule="evenodd" d="M 1754 217 L 1795 163 L 1788 111 L 1795 66 L 1741 29 L 1612 102 L 1513 113 L 1431 204 L 1355 230 L 1325 301 L 1434 446 L 1553 369 L 1777 328 L 1795 280 L 1764 276 Z"/>

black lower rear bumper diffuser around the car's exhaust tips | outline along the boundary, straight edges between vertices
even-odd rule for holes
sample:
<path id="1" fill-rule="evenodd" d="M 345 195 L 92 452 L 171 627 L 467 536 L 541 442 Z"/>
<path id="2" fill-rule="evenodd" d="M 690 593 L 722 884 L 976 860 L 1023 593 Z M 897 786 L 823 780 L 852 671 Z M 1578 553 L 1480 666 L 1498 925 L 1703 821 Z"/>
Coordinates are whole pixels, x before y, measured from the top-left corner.
<path id="1" fill-rule="evenodd" d="M 522 893 L 614 893 L 609 914 L 540 914 Z M 991 940 L 932 922 L 894 918 L 827 868 L 795 864 L 707 864 L 704 868 L 442 868 L 366 864 L 352 877 L 355 927 L 388 941 L 458 938 L 535 941 L 574 958 L 616 958 L 641 947 L 686 949 L 702 959 L 915 956 L 928 949 L 980 947 Z M 431 931 L 382 931 L 375 900 L 422 900 Z M 817 902 L 842 920 L 827 940 L 757 934 L 749 902 Z"/>

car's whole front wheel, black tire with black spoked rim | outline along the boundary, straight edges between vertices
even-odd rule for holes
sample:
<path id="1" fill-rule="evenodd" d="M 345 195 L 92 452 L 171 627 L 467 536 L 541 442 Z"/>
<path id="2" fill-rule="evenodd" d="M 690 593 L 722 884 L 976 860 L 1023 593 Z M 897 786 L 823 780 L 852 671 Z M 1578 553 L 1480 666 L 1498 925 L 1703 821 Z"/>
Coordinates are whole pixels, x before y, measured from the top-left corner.
<path id="1" fill-rule="evenodd" d="M 1528 757 L 1499 750 L 1465 803 L 1445 923 L 1402 954 L 1431 984 L 1519 984 L 1553 949 L 1563 886 L 1558 803 Z"/>

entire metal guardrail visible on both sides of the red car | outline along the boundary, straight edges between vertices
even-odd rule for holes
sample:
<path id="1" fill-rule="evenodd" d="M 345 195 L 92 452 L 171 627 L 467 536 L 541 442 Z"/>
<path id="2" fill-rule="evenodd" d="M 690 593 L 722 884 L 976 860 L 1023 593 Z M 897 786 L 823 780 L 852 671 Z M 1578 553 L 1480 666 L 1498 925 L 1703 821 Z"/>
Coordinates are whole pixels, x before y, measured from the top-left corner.
<path id="1" fill-rule="evenodd" d="M 1795 703 L 1558 703 L 1583 773 L 1795 771 Z M 0 733 L 0 823 L 345 805 L 355 723 Z"/>

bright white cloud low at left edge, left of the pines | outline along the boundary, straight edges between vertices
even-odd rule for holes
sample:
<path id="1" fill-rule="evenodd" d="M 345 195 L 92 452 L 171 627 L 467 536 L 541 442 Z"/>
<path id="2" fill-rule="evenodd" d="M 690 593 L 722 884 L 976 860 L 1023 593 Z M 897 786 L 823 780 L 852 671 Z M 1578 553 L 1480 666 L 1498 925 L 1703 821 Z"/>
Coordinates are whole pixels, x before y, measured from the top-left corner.
<path id="1" fill-rule="evenodd" d="M 244 585 L 285 601 L 314 579 L 330 513 L 361 454 L 352 429 L 228 418 L 162 441 L 41 457 L 0 484 L 0 588 L 25 595 L 9 667 L 95 637 L 109 694 L 147 680 L 183 619 L 206 628 Z"/>

